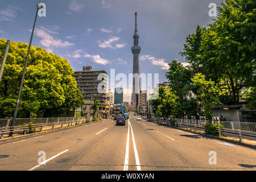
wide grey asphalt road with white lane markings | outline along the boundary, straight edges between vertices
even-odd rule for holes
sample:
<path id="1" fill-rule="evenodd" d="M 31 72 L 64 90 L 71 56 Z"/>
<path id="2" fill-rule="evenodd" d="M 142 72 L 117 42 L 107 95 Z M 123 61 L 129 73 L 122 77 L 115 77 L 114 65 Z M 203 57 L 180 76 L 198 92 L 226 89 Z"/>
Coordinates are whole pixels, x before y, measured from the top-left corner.
<path id="1" fill-rule="evenodd" d="M 0 169 L 256 170 L 256 151 L 131 117 L 0 143 Z"/>

